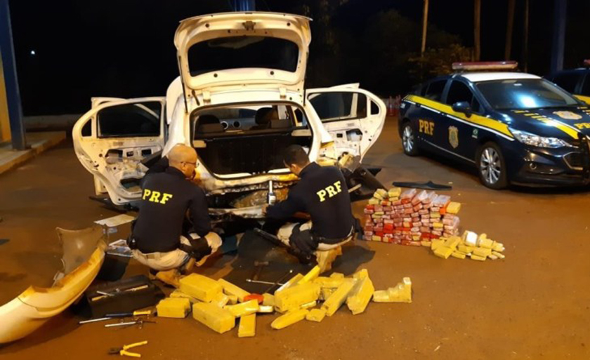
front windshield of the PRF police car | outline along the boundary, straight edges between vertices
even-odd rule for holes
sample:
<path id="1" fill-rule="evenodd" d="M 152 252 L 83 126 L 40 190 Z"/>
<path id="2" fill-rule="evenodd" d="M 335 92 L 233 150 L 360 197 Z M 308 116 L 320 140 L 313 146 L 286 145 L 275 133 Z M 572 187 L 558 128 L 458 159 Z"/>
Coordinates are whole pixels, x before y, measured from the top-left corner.
<path id="1" fill-rule="evenodd" d="M 487 102 L 497 110 L 539 109 L 577 105 L 569 93 L 544 79 L 511 79 L 476 83 Z"/>

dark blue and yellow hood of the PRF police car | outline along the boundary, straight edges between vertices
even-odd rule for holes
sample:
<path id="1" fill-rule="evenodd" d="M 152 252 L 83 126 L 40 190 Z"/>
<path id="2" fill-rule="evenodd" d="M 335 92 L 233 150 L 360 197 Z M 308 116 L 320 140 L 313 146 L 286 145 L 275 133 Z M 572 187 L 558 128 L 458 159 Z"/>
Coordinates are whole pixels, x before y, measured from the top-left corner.
<path id="1" fill-rule="evenodd" d="M 577 139 L 590 136 L 590 108 L 582 106 L 544 107 L 501 112 L 511 128 L 547 138 Z"/>

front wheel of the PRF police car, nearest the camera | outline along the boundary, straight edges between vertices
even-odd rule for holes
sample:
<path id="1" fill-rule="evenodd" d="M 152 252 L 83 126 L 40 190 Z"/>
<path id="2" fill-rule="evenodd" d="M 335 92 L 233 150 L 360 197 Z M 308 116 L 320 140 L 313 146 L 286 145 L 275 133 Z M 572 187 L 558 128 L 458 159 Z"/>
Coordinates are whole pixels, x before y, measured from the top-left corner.
<path id="1" fill-rule="evenodd" d="M 501 149 L 494 142 L 487 142 L 478 151 L 478 173 L 481 182 L 490 189 L 504 189 L 508 185 L 506 162 Z"/>

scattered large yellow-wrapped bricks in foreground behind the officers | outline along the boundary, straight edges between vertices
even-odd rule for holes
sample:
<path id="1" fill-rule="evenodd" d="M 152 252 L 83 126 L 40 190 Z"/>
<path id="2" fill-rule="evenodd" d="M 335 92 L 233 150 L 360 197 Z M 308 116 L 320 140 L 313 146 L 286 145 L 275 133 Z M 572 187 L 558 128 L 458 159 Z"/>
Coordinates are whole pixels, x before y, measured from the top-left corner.
<path id="1" fill-rule="evenodd" d="M 296 274 L 275 291 L 274 295 L 250 294 L 224 279 L 214 280 L 199 274 L 181 279 L 181 286 L 169 298 L 159 302 L 157 315 L 185 318 L 192 310 L 192 317 L 218 333 L 235 328 L 240 338 L 256 334 L 256 316 L 278 316 L 270 326 L 282 329 L 303 319 L 322 321 L 332 316 L 344 303 L 353 314 L 365 311 L 369 301 L 412 302 L 412 281 L 402 282 L 387 290 L 375 291 L 366 269 L 345 277 L 334 273 L 319 276 L 320 267 L 314 267 L 306 275 Z"/>

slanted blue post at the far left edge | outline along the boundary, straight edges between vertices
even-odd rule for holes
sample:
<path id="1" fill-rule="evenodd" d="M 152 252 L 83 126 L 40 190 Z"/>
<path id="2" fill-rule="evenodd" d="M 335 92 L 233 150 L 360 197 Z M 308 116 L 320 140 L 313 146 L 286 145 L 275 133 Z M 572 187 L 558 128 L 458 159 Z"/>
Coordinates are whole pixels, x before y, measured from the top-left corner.
<path id="1" fill-rule="evenodd" d="M 18 90 L 18 76 L 16 75 L 11 11 L 8 7 L 8 0 L 0 0 L 0 53 L 4 68 L 12 145 L 13 149 L 24 150 L 27 147 L 27 142 L 25 140 L 25 126 L 22 124 L 22 107 L 20 105 L 20 91 Z"/>

